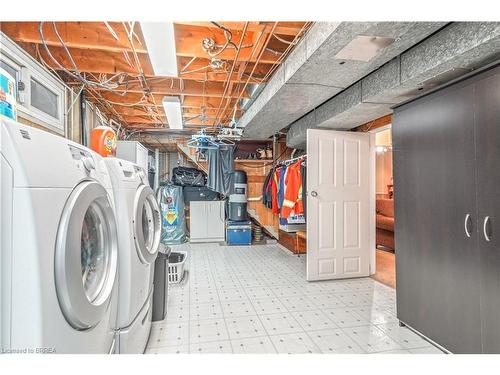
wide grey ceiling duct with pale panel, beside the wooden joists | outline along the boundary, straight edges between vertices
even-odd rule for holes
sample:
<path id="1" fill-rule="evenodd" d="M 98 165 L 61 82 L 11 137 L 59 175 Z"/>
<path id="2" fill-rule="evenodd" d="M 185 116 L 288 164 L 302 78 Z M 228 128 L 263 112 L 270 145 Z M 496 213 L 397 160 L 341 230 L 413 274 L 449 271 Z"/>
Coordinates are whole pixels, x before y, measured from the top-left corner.
<path id="1" fill-rule="evenodd" d="M 438 22 L 315 23 L 240 119 L 268 138 L 445 26 Z"/>

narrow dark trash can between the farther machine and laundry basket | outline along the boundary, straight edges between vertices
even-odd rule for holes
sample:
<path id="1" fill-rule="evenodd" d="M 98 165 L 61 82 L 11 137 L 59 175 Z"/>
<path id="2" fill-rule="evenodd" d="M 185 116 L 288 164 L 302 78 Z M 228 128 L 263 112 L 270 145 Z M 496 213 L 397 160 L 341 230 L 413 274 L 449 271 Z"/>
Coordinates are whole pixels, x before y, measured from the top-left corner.
<path id="1" fill-rule="evenodd" d="M 163 320 L 167 316 L 168 299 L 168 258 L 170 247 L 160 244 L 160 250 L 155 261 L 153 279 L 153 322 Z"/>

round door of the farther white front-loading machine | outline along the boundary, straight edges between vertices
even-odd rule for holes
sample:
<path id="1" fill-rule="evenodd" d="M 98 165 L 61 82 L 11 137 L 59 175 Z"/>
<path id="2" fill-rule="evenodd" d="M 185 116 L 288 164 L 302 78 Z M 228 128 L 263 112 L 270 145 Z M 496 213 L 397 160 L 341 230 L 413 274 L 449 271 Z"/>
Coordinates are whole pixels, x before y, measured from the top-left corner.
<path id="1" fill-rule="evenodd" d="M 137 255 L 143 263 L 153 263 L 161 236 L 161 214 L 153 190 L 146 185 L 137 189 L 134 203 L 134 239 Z"/>

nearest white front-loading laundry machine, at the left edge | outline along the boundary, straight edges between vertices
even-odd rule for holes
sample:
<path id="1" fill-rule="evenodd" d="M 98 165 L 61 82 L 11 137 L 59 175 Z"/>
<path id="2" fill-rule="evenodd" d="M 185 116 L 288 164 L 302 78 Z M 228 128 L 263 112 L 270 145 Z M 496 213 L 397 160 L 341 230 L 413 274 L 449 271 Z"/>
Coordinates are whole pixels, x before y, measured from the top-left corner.
<path id="1" fill-rule="evenodd" d="M 103 159 L 10 120 L 0 134 L 2 351 L 113 352 L 118 246 Z"/>

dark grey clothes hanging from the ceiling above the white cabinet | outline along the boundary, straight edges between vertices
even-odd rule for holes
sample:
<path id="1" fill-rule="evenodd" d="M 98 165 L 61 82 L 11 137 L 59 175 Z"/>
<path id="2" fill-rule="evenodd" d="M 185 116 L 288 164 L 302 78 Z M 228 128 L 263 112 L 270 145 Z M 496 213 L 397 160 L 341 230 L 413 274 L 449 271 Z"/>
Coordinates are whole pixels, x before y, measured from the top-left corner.
<path id="1" fill-rule="evenodd" d="M 224 195 L 233 194 L 234 190 L 234 146 L 220 145 L 207 150 L 209 189 Z"/>

